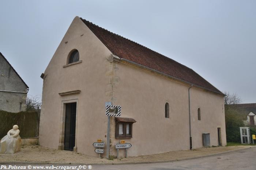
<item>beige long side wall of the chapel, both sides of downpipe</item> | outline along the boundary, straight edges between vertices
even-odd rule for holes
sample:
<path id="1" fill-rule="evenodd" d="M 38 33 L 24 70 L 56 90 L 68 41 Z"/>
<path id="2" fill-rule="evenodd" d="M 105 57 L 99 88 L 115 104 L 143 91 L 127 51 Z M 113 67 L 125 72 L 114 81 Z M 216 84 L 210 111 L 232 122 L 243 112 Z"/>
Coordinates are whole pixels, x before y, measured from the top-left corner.
<path id="1" fill-rule="evenodd" d="M 128 155 L 146 155 L 173 150 L 188 150 L 189 110 L 188 85 L 152 72 L 116 63 L 115 75 L 119 78 L 114 88 L 114 104 L 121 105 L 121 117 L 134 118 Z M 170 106 L 170 118 L 165 118 L 165 103 Z M 222 130 L 222 145 L 226 145 L 225 116 L 222 112 L 223 96 L 191 89 L 191 122 L 193 148 L 202 147 L 202 133 L 209 132 L 211 145 L 218 145 L 217 127 Z M 197 108 L 201 108 L 202 120 L 197 121 Z M 112 128 L 112 143 L 114 139 Z M 114 146 L 112 154 L 116 155 Z M 121 150 L 124 156 L 124 150 Z"/>

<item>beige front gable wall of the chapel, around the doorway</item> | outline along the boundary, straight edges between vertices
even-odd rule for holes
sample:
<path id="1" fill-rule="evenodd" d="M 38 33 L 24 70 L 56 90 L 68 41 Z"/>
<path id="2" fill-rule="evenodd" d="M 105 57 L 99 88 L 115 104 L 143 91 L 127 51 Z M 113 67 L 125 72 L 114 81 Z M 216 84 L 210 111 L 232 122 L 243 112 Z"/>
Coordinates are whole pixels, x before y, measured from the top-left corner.
<path id="1" fill-rule="evenodd" d="M 67 43 L 65 43 L 67 41 Z M 79 51 L 82 63 L 68 67 L 71 50 Z M 77 151 L 95 155 L 93 142 L 103 139 L 107 127 L 105 102 L 111 100 L 112 63 L 106 58 L 110 51 L 75 17 L 57 48 L 44 74 L 39 144 L 58 148 L 63 120 L 62 103 L 78 100 L 76 142 Z M 108 75 L 106 75 L 108 73 Z M 60 96 L 60 92 L 81 90 L 80 94 Z"/>

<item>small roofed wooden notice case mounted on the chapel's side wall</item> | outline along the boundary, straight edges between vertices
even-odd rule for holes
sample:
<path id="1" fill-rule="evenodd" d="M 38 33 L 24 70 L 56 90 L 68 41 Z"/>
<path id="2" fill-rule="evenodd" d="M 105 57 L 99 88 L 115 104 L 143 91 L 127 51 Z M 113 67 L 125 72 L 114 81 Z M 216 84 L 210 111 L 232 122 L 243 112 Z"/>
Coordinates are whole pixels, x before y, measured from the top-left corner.
<path id="1" fill-rule="evenodd" d="M 120 138 L 132 138 L 132 124 L 136 120 L 132 118 L 116 118 L 116 133 L 115 137 Z"/>

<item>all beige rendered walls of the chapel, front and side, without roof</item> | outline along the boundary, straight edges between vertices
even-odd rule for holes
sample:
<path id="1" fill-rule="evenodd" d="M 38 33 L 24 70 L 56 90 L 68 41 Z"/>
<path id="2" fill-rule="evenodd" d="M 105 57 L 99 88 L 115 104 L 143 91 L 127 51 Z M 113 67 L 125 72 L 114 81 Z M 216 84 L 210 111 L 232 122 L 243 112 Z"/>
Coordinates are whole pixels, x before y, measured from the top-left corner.
<path id="1" fill-rule="evenodd" d="M 79 51 L 82 62 L 63 67 L 73 49 Z M 126 142 L 132 144 L 128 149 L 128 156 L 189 149 L 189 86 L 112 60 L 111 52 L 79 17 L 75 17 L 44 72 L 39 144 L 58 149 L 64 124 L 63 103 L 78 101 L 77 151 L 97 156 L 92 144 L 97 139 L 103 139 L 106 143 L 105 102 L 111 101 L 122 106 L 121 117 L 137 121 L 133 123 L 133 138 L 126 139 Z M 81 92 L 68 96 L 59 95 L 60 92 L 73 90 Z M 166 102 L 170 105 L 170 118 L 165 118 Z M 222 129 L 222 145 L 225 145 L 223 97 L 192 88 L 191 104 L 192 119 L 195 119 L 192 120 L 193 148 L 202 147 L 202 132 L 211 133 L 211 145 L 217 145 L 217 139 L 214 139 L 217 126 Z M 198 106 L 202 107 L 201 122 L 196 121 Z M 112 117 L 112 155 L 116 155 L 114 144 L 120 141 L 115 139 L 114 130 L 115 122 Z M 120 151 L 120 156 L 124 156 L 124 150 Z"/>

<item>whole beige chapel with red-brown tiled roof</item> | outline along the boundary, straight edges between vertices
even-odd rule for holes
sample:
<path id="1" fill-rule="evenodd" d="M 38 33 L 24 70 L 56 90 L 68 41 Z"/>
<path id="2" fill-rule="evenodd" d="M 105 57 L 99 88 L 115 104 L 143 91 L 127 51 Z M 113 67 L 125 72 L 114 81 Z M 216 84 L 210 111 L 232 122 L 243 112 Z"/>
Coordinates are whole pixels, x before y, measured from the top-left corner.
<path id="1" fill-rule="evenodd" d="M 211 146 L 226 145 L 221 91 L 191 68 L 77 16 L 41 78 L 42 146 L 96 156 L 93 143 L 107 141 L 105 102 L 121 106 L 121 116 L 110 117 L 109 155 L 121 139 L 132 144 L 128 156 L 199 148 L 203 133 Z"/>

